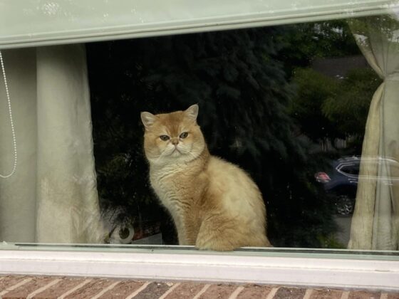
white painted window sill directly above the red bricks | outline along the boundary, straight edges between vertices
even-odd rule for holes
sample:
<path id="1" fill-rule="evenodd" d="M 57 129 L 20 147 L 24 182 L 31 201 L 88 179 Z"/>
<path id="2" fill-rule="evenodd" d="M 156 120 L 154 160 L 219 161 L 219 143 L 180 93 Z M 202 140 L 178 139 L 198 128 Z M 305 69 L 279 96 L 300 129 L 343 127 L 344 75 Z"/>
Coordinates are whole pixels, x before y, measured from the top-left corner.
<path id="1" fill-rule="evenodd" d="M 0 251 L 0 273 L 399 290 L 399 261 L 237 254 Z M 320 256 L 320 255 L 318 255 Z M 337 255 L 339 257 L 339 255 Z M 345 255 L 348 256 L 348 255 Z M 368 257 L 370 258 L 370 256 Z"/>

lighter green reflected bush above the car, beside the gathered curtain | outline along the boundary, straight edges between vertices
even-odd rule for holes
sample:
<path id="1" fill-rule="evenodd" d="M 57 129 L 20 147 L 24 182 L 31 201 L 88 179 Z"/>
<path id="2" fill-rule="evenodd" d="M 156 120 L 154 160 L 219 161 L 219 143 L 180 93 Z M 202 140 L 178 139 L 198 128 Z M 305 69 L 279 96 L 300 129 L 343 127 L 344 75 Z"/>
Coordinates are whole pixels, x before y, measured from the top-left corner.
<path id="1" fill-rule="evenodd" d="M 289 111 L 299 133 L 314 142 L 346 139 L 350 146 L 341 154 L 361 154 L 368 108 L 381 83 L 378 75 L 371 68 L 355 68 L 337 79 L 312 68 L 297 68 L 293 82 L 296 95 Z"/>

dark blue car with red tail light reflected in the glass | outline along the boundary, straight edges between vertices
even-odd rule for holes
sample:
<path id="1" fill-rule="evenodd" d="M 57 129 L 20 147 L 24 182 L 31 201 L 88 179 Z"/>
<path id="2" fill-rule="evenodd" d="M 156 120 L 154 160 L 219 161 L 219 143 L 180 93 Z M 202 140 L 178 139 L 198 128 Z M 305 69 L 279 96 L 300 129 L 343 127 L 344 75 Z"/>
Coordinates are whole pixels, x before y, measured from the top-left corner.
<path id="1" fill-rule="evenodd" d="M 342 157 L 334 160 L 331 170 L 317 172 L 316 181 L 323 184 L 324 189 L 333 195 L 336 212 L 341 215 L 353 214 L 356 191 L 359 180 L 378 181 L 382 184 L 393 185 L 399 182 L 399 162 L 387 157 L 363 157 L 363 163 L 375 166 L 385 174 L 378 176 L 359 175 L 361 156 Z M 384 171 L 383 169 L 388 169 Z M 390 175 L 388 175 L 388 171 Z"/>

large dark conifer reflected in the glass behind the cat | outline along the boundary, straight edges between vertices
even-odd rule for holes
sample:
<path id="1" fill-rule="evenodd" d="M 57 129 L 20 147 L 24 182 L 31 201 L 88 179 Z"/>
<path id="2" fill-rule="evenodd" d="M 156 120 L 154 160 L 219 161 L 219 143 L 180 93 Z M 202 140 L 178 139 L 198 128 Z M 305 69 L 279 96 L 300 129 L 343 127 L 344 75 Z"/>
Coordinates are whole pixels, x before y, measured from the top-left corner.
<path id="1" fill-rule="evenodd" d="M 140 111 L 199 103 L 209 150 L 246 169 L 264 194 L 272 243 L 323 246 L 320 237 L 335 229 L 332 209 L 314 183 L 318 157 L 295 137 L 289 116 L 294 90 L 279 61 L 286 33 L 257 28 L 88 45 L 102 205 L 165 219 L 147 183 Z"/>

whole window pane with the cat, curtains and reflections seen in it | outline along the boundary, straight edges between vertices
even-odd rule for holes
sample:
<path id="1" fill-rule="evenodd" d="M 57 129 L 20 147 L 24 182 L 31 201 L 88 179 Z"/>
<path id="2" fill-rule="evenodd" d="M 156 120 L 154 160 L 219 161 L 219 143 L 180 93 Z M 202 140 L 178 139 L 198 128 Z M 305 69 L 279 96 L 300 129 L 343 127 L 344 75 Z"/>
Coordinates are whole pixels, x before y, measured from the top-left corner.
<path id="1" fill-rule="evenodd" d="M 397 251 L 398 30 L 383 15 L 3 51 L 21 158 L 0 240 Z"/>

